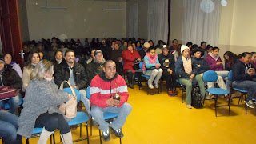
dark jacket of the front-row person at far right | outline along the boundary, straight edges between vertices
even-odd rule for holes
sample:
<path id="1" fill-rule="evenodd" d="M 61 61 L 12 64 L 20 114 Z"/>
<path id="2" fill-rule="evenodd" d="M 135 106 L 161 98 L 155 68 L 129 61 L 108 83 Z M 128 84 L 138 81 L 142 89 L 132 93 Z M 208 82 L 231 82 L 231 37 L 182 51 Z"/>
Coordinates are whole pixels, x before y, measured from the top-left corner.
<path id="1" fill-rule="evenodd" d="M 253 78 L 256 78 L 256 75 L 250 76 L 246 70 L 254 68 L 252 64 L 245 64 L 238 60 L 233 66 L 232 74 L 233 74 L 233 81 L 252 81 Z"/>

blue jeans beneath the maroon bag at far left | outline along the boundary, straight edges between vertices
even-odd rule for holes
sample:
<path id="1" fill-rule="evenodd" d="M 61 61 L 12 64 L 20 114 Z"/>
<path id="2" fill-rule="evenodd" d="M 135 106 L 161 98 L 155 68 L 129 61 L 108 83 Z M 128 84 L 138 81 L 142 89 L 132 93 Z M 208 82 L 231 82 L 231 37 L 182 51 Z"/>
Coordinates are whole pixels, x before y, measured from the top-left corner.
<path id="1" fill-rule="evenodd" d="M 15 114 L 15 111 L 17 110 L 18 108 L 18 105 L 19 105 L 19 95 L 17 95 L 16 97 L 14 98 L 10 98 L 10 99 L 6 99 L 4 101 L 0 101 L 0 107 L 1 108 L 4 108 L 6 103 L 9 103 L 10 105 L 10 109 L 9 109 L 9 112 L 11 114 Z"/>

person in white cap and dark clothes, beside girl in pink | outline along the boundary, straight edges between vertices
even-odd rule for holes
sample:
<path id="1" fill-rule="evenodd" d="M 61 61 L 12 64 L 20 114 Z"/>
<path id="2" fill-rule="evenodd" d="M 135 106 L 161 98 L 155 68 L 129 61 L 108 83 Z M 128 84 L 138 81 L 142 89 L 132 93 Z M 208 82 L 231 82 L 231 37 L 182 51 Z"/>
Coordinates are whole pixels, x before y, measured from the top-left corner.
<path id="1" fill-rule="evenodd" d="M 169 53 L 168 47 L 163 45 L 162 53 L 158 54 L 158 60 L 162 68 L 162 78 L 166 79 L 166 89 L 169 96 L 177 96 L 176 92 L 176 79 L 175 60 L 173 54 Z"/>

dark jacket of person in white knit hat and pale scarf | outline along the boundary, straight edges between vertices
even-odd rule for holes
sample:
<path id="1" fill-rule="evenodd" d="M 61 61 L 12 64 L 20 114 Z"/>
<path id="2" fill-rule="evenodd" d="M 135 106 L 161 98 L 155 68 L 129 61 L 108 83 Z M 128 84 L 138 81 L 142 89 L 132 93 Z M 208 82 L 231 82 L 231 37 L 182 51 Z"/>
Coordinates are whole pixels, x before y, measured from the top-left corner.
<path id="1" fill-rule="evenodd" d="M 196 72 L 196 71 L 194 71 L 194 69 L 195 69 L 195 67 L 193 66 L 193 63 L 192 63 L 192 73 L 191 74 L 194 74 Z M 187 74 L 185 72 L 185 69 L 183 66 L 183 61 L 182 61 L 182 55 L 179 56 L 177 61 L 175 62 L 175 72 L 179 78 L 190 78 L 190 74 Z M 196 75 L 196 74 L 194 74 L 194 75 Z"/>

